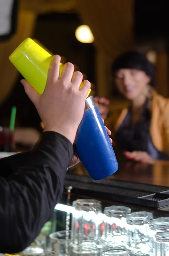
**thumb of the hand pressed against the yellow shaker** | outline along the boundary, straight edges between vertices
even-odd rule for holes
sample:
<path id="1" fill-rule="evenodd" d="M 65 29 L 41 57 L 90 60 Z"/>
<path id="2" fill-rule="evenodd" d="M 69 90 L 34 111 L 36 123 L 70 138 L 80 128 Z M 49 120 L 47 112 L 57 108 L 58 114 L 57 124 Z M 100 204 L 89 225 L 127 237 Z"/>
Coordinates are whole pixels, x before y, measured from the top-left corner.
<path id="1" fill-rule="evenodd" d="M 25 92 L 28 95 L 29 99 L 33 102 L 33 104 L 36 107 L 36 105 L 40 99 L 40 94 L 36 90 L 34 90 L 34 88 L 25 79 L 22 79 L 20 82 L 23 85 Z"/>

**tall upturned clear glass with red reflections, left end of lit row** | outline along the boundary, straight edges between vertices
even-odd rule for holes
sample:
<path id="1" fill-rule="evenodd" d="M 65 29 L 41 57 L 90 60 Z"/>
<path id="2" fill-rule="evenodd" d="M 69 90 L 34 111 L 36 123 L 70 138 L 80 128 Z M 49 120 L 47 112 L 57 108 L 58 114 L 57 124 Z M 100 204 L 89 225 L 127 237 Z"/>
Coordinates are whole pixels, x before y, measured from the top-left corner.
<path id="1" fill-rule="evenodd" d="M 101 239 L 101 202 L 78 199 L 73 202 L 71 246 L 79 252 L 97 250 Z"/>

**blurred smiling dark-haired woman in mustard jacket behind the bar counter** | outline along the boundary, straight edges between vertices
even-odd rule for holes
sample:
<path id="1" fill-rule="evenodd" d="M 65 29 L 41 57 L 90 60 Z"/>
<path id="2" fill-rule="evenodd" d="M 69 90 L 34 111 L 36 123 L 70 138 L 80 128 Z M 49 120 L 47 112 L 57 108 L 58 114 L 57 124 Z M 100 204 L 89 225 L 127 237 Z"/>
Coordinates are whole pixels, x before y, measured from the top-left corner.
<path id="1" fill-rule="evenodd" d="M 118 148 L 128 159 L 169 163 L 169 100 L 153 88 L 153 65 L 143 53 L 133 50 L 117 57 L 112 73 L 117 89 L 131 102 L 117 120 L 110 116 L 106 121 Z M 109 102 L 97 101 L 105 118 Z"/>

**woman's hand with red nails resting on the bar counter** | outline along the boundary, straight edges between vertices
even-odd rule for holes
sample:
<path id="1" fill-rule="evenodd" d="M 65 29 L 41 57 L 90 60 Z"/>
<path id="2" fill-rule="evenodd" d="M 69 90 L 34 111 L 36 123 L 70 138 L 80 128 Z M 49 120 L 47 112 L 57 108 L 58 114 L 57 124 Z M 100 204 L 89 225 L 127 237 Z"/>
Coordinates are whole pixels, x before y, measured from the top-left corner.
<path id="1" fill-rule="evenodd" d="M 156 162 L 156 160 L 150 157 L 146 151 L 124 151 L 123 154 L 127 159 L 138 161 L 140 163 L 154 164 Z"/>

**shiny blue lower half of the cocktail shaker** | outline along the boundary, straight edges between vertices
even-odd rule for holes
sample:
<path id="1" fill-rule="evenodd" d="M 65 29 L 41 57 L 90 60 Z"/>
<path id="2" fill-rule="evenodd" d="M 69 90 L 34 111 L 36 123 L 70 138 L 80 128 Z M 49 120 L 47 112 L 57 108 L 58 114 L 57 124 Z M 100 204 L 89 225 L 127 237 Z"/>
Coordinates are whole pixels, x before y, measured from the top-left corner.
<path id="1" fill-rule="evenodd" d="M 76 150 L 93 180 L 101 180 L 118 170 L 115 152 L 97 106 L 84 112 L 77 131 Z"/>

